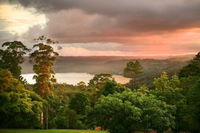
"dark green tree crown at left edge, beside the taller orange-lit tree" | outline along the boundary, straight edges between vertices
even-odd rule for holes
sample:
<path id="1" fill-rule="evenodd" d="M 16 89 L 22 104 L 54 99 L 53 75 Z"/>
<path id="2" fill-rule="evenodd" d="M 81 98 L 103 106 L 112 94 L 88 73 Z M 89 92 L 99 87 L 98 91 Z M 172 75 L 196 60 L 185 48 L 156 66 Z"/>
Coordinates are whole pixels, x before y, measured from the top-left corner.
<path id="1" fill-rule="evenodd" d="M 9 70 L 15 78 L 21 79 L 20 64 L 24 62 L 23 56 L 29 49 L 19 41 L 5 42 L 2 47 L 5 49 L 0 49 L 0 68 Z"/>

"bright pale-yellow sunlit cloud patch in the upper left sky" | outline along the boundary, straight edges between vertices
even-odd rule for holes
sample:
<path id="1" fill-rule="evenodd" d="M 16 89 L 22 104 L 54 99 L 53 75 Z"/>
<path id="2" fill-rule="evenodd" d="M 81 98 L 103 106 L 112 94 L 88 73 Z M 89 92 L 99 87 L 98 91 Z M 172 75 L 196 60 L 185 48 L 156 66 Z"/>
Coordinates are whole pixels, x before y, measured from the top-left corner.
<path id="1" fill-rule="evenodd" d="M 0 5 L 0 31 L 21 35 L 34 25 L 43 28 L 47 22 L 44 14 L 39 14 L 34 8 L 24 8 L 20 5 Z"/>

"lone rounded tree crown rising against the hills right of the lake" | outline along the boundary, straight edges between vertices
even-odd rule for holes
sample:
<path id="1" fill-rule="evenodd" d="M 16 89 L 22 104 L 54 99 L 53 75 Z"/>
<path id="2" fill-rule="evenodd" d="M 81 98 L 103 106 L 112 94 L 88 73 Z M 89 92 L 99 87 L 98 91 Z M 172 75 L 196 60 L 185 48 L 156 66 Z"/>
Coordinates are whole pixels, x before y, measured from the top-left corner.
<path id="1" fill-rule="evenodd" d="M 137 74 L 140 73 L 142 73 L 142 66 L 138 60 L 135 62 L 131 61 L 126 64 L 126 68 L 124 69 L 125 77 L 134 78 Z"/>

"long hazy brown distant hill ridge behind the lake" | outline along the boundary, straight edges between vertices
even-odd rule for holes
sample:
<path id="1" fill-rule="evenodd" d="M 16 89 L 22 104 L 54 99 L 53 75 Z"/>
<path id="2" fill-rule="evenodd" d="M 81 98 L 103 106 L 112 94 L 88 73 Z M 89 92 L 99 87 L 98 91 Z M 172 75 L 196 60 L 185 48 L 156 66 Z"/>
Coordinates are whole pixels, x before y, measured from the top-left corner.
<path id="1" fill-rule="evenodd" d="M 55 64 L 57 73 L 86 72 L 123 74 L 126 63 L 138 59 L 144 72 L 140 76 L 152 75 L 162 71 L 178 71 L 185 66 L 193 56 L 177 56 L 166 59 L 138 59 L 139 57 L 127 56 L 89 56 L 89 57 L 58 57 Z M 140 57 L 141 58 L 141 57 Z M 144 57 L 143 57 L 144 58 Z M 153 57 L 152 57 L 153 58 Z M 23 73 L 32 73 L 32 64 L 26 58 L 22 65 Z"/>

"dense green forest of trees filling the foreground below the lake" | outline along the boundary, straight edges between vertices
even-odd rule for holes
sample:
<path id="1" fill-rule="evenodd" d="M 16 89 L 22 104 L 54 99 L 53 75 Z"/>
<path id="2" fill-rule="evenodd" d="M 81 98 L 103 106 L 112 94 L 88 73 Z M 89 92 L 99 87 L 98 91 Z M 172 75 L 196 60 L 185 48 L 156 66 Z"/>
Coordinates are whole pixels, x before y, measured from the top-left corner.
<path id="1" fill-rule="evenodd" d="M 49 45 L 55 42 L 45 37 L 36 41 L 32 49 L 19 41 L 2 44 L 0 128 L 200 132 L 200 52 L 184 66 L 175 63 L 171 73 L 145 76 L 144 64 L 129 60 L 122 73 L 132 78 L 128 84 L 98 73 L 89 84 L 73 86 L 56 83 L 58 53 Z M 21 76 L 27 54 L 34 85 Z"/>

